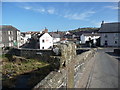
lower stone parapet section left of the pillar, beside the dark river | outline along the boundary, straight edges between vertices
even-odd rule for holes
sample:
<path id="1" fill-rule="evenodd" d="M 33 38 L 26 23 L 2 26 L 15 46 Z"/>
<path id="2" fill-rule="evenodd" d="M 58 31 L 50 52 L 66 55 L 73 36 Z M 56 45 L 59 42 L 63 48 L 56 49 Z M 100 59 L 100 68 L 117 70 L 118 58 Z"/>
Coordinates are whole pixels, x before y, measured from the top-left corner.
<path id="1" fill-rule="evenodd" d="M 66 86 L 66 70 L 62 69 L 59 72 L 51 72 L 45 79 L 38 83 L 34 89 L 37 88 L 60 88 Z"/>

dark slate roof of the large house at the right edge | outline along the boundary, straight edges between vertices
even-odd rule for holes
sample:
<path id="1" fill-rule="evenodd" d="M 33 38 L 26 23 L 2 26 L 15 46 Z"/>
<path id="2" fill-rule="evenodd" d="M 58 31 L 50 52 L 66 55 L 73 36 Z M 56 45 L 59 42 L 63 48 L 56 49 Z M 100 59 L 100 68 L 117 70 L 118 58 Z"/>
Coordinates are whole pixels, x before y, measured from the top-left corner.
<path id="1" fill-rule="evenodd" d="M 100 33 L 120 32 L 120 22 L 103 23 L 100 28 Z"/>

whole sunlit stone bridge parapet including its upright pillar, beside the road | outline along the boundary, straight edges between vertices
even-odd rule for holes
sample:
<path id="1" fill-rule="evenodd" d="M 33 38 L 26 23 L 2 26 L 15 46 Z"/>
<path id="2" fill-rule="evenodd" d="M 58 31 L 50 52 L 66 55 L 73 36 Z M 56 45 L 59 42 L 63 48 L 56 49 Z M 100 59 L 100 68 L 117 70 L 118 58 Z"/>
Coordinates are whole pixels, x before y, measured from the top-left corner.
<path id="1" fill-rule="evenodd" d="M 80 55 L 76 55 L 74 43 L 59 46 L 61 51 L 60 68 L 51 72 L 45 79 L 38 83 L 33 89 L 42 88 L 74 88 L 79 76 L 78 70 L 83 71 L 87 61 L 94 55 L 95 49 L 91 49 Z M 80 77 L 80 76 L 79 76 Z M 77 78 L 78 79 L 78 78 Z"/>

